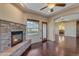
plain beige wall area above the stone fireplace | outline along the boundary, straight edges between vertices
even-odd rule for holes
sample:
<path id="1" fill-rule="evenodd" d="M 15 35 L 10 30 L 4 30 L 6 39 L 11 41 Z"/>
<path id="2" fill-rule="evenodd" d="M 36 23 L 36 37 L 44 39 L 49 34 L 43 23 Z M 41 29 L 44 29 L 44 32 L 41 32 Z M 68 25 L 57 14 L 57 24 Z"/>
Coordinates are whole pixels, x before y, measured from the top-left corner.
<path id="1" fill-rule="evenodd" d="M 0 4 L 0 19 L 22 23 L 24 20 L 23 13 L 11 4 Z"/>

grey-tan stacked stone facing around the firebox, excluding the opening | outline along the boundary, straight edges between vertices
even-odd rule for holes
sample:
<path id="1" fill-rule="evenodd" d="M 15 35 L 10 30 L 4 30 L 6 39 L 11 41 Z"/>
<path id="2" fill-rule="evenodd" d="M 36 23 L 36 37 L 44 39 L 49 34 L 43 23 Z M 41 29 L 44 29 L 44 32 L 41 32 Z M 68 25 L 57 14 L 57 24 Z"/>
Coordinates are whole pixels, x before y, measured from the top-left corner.
<path id="1" fill-rule="evenodd" d="M 11 32 L 23 31 L 23 41 L 26 40 L 26 26 L 19 23 L 0 20 L 0 52 L 11 48 Z"/>

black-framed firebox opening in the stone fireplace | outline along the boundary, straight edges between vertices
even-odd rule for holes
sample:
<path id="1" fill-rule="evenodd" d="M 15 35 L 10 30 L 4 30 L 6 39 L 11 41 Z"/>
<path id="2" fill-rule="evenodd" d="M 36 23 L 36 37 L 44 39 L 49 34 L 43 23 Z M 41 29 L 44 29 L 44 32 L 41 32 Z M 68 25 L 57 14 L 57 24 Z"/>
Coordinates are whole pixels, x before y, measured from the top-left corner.
<path id="1" fill-rule="evenodd" d="M 15 46 L 23 41 L 23 31 L 11 32 L 11 46 Z"/>

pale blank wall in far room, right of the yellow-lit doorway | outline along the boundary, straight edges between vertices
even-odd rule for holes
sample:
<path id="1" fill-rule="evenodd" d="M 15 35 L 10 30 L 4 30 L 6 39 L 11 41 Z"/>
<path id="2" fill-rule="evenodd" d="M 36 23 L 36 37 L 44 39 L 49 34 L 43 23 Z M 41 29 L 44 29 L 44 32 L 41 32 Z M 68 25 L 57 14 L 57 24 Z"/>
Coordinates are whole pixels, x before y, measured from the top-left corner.
<path id="1" fill-rule="evenodd" d="M 65 22 L 65 36 L 76 37 L 76 21 Z"/>

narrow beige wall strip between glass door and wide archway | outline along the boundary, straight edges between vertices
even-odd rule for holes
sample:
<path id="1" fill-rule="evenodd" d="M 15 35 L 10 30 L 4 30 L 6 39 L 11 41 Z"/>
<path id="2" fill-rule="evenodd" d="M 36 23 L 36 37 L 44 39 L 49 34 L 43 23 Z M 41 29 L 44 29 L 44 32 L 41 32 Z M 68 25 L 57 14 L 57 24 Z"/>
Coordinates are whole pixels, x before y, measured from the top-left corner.
<path id="1" fill-rule="evenodd" d="M 53 18 L 48 22 L 48 40 L 55 41 L 55 21 Z"/>

